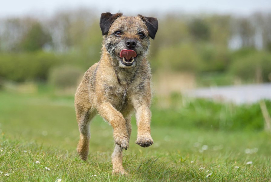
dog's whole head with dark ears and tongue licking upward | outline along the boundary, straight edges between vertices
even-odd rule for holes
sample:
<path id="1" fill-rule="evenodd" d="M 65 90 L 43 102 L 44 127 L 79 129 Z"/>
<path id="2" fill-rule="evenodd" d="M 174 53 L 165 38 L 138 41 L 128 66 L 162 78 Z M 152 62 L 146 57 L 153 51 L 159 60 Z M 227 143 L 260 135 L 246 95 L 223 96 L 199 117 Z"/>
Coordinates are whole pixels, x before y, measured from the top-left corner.
<path id="1" fill-rule="evenodd" d="M 156 18 L 122 16 L 103 13 L 100 27 L 104 36 L 104 46 L 113 61 L 121 68 L 135 67 L 146 56 L 150 39 L 154 39 L 158 29 Z"/>

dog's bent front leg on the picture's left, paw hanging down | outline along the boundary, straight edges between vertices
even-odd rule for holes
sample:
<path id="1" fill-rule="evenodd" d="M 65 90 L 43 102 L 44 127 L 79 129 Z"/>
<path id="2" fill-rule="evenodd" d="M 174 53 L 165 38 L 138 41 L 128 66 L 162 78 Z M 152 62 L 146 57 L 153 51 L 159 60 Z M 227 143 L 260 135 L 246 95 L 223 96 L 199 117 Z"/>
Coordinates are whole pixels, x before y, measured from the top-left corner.
<path id="1" fill-rule="evenodd" d="M 99 114 L 106 119 L 113 127 L 115 143 L 127 150 L 129 147 L 129 135 L 126 129 L 126 121 L 122 114 L 117 111 L 109 102 L 102 102 L 97 108 Z"/>

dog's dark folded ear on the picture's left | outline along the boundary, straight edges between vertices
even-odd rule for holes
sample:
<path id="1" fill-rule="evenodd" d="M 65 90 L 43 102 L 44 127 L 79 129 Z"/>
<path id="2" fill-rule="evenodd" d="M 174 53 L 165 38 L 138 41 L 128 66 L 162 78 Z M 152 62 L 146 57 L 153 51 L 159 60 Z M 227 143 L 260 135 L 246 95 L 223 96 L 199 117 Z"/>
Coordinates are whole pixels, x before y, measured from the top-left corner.
<path id="1" fill-rule="evenodd" d="M 122 16 L 122 13 L 116 13 L 112 15 L 111 13 L 102 13 L 100 19 L 100 27 L 103 35 L 107 34 L 112 23 L 119 17 Z"/>

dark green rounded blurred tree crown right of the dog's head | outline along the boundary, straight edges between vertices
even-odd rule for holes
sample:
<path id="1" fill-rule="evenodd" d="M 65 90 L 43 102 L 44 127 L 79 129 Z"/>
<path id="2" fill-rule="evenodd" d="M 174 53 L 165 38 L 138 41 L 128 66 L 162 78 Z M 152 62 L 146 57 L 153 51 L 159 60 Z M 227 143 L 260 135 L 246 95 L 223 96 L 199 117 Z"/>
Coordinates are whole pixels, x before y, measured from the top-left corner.
<path id="1" fill-rule="evenodd" d="M 202 19 L 194 19 L 189 24 L 189 31 L 196 41 L 208 41 L 210 38 L 210 28 L 208 24 Z"/>

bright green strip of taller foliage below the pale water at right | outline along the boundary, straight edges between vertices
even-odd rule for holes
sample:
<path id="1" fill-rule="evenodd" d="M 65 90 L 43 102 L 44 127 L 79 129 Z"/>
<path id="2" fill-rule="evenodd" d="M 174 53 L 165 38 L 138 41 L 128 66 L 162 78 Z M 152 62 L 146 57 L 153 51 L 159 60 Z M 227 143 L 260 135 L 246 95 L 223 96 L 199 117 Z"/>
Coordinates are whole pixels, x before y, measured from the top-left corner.
<path id="1" fill-rule="evenodd" d="M 236 106 L 205 99 L 188 100 L 178 93 L 171 95 L 168 108 L 152 107 L 153 125 L 204 128 L 215 130 L 263 130 L 264 118 L 259 103 Z M 270 110 L 271 101 L 266 101 Z M 271 114 L 271 112 L 269 113 Z M 164 119 L 166 118 L 166 122 Z"/>

